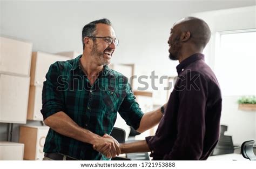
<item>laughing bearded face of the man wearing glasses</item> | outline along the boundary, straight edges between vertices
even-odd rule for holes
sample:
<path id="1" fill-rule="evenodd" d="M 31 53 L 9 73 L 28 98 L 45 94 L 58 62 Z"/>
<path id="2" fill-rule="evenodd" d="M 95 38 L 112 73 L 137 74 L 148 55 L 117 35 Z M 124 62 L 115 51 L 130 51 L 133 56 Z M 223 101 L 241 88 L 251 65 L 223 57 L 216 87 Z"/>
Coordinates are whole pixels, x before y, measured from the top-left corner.
<path id="1" fill-rule="evenodd" d="M 112 42 L 109 44 L 109 38 L 116 39 L 116 33 L 112 26 L 106 24 L 96 25 L 95 37 L 106 37 L 106 38 L 95 38 L 93 40 L 91 56 L 96 59 L 98 65 L 108 65 L 116 45 Z"/>

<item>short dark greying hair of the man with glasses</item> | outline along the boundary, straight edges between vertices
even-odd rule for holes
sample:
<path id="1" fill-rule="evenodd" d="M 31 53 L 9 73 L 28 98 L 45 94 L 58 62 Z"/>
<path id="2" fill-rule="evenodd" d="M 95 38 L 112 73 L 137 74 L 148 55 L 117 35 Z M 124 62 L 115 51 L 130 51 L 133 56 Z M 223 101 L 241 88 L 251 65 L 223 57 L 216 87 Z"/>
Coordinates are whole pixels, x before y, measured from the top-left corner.
<path id="1" fill-rule="evenodd" d="M 112 26 L 111 22 L 109 21 L 109 19 L 103 18 L 103 19 L 99 19 L 96 21 L 92 21 L 89 24 L 86 24 L 82 30 L 82 42 L 83 42 L 83 50 L 84 50 L 84 38 L 93 36 L 95 34 L 96 31 L 96 24 L 98 23 L 102 23 L 102 24 L 106 24 L 106 25 L 110 25 Z"/>

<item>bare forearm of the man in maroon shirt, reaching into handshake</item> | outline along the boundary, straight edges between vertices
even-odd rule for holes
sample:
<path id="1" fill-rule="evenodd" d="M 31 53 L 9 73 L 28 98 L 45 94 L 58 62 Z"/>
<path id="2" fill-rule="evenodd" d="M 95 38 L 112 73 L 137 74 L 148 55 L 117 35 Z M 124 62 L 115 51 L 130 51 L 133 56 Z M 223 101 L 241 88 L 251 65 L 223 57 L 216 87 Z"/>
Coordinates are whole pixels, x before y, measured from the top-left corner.
<path id="1" fill-rule="evenodd" d="M 136 141 L 136 142 L 127 143 L 127 144 L 121 144 L 120 149 L 121 149 L 121 154 L 150 151 L 149 146 L 147 146 L 146 140 Z"/>

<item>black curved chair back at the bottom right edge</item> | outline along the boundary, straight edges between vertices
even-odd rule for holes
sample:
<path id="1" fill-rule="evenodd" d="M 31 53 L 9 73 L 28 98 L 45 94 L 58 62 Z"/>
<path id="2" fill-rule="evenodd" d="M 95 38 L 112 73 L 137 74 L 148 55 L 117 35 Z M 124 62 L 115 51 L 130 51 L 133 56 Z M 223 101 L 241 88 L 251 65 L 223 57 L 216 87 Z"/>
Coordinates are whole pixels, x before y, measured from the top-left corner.
<path id="1" fill-rule="evenodd" d="M 244 143 L 242 143 L 241 153 L 244 158 L 247 158 L 250 160 L 256 160 L 256 156 L 253 152 L 254 143 L 255 143 L 254 140 L 245 141 Z"/>

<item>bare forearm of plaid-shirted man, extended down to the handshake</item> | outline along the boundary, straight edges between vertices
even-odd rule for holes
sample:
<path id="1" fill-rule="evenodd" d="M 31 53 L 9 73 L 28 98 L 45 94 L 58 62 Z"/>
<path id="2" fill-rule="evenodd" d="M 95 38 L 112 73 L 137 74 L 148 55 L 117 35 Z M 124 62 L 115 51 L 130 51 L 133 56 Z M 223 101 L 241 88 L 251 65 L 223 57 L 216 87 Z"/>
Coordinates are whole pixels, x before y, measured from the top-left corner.
<path id="1" fill-rule="evenodd" d="M 78 126 L 66 113 L 60 111 L 44 120 L 45 125 L 51 127 L 63 136 L 70 137 L 84 143 L 93 144 L 99 136 Z"/>

